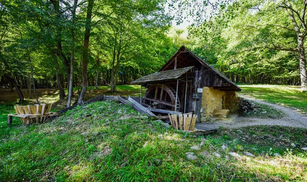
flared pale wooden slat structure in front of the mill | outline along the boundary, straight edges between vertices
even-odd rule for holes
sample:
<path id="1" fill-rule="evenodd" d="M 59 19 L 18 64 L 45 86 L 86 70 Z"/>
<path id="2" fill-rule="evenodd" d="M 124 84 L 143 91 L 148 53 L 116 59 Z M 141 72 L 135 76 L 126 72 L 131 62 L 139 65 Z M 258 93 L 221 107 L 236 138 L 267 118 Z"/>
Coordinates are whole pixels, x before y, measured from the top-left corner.
<path id="1" fill-rule="evenodd" d="M 193 131 L 195 123 L 197 121 L 197 116 L 192 113 L 170 115 L 168 114 L 170 124 L 173 129 L 183 130 L 183 131 Z"/>

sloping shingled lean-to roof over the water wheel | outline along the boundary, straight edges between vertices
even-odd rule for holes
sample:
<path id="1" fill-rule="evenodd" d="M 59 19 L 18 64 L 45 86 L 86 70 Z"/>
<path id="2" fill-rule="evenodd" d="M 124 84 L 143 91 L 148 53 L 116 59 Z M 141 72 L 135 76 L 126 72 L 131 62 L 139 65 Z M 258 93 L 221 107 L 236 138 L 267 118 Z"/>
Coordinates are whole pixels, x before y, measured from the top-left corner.
<path id="1" fill-rule="evenodd" d="M 177 70 L 167 70 L 157 73 L 152 73 L 150 75 L 143 76 L 131 83 L 133 84 L 143 84 L 147 82 L 154 82 L 154 81 L 164 81 L 164 80 L 173 80 L 181 77 L 183 74 L 187 73 L 192 69 L 193 66 L 184 67 L 182 69 Z"/>

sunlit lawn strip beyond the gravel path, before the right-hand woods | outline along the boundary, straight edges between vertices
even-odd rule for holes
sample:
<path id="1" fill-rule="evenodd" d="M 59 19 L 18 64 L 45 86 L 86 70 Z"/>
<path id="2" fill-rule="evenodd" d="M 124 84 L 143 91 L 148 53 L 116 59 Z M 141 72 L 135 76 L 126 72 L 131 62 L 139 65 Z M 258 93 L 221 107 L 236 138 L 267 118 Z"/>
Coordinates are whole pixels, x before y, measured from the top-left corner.
<path id="1" fill-rule="evenodd" d="M 301 93 L 299 86 L 282 85 L 240 85 L 239 94 L 286 105 L 307 112 L 307 93 Z"/>

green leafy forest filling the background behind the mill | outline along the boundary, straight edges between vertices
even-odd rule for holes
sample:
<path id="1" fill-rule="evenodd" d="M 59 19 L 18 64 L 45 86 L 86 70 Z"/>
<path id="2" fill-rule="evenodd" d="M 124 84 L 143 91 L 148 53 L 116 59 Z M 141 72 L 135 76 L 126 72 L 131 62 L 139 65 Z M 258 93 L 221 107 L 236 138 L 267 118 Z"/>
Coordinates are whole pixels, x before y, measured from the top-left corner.
<path id="1" fill-rule="evenodd" d="M 0 85 L 14 88 L 19 102 L 25 90 L 57 88 L 70 106 L 73 87 L 78 103 L 87 86 L 114 93 L 185 45 L 233 82 L 305 92 L 306 7 L 298 0 L 0 0 Z"/>

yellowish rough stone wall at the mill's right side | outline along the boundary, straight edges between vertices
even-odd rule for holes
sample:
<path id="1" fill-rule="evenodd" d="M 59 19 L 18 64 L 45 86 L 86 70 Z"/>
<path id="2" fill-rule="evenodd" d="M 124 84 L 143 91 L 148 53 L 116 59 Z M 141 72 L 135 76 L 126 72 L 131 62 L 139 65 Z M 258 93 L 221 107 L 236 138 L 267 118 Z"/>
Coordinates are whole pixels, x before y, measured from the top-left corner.
<path id="1" fill-rule="evenodd" d="M 229 109 L 236 112 L 240 108 L 240 100 L 235 91 L 221 91 L 213 87 L 204 87 L 202 95 L 201 121 L 213 116 L 214 109 Z"/>

